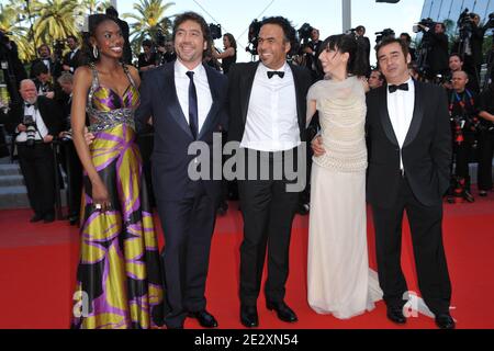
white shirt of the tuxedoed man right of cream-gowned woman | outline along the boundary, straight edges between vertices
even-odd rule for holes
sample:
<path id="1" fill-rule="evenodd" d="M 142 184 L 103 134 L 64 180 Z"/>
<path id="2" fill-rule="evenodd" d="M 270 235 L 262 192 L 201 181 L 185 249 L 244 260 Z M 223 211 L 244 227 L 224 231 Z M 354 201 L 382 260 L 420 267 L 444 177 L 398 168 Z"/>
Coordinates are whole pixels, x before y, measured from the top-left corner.
<path id="1" fill-rule="evenodd" d="M 404 170 L 402 148 L 409 129 L 409 124 L 412 123 L 412 117 L 414 116 L 415 105 L 414 80 L 409 78 L 406 83 L 408 83 L 407 91 L 398 89 L 395 92 L 390 93 L 390 90 L 388 90 L 388 113 L 390 114 L 394 135 L 400 145 L 400 169 L 402 172 Z"/>

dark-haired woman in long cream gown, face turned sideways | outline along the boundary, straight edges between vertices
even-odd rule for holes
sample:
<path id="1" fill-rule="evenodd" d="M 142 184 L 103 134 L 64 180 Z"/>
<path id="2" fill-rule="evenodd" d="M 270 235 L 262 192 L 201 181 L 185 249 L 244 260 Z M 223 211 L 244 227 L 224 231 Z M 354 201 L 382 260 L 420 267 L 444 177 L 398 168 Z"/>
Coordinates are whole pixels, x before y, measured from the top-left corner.
<path id="1" fill-rule="evenodd" d="M 371 310 L 382 297 L 369 269 L 366 218 L 367 83 L 352 35 L 334 35 L 319 55 L 325 80 L 307 94 L 307 124 L 318 111 L 325 154 L 314 157 L 308 226 L 308 304 L 340 319 Z"/>

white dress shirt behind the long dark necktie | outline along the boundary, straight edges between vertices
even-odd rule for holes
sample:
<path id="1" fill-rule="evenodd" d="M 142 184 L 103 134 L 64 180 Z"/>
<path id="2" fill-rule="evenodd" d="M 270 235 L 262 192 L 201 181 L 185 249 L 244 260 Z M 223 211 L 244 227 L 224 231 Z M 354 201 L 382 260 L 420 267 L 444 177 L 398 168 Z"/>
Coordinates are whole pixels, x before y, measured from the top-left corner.
<path id="1" fill-rule="evenodd" d="M 204 66 L 199 65 L 194 69 L 189 69 L 183 66 L 180 60 L 175 61 L 175 86 L 177 88 L 177 97 L 179 99 L 180 106 L 182 107 L 183 115 L 187 123 L 189 123 L 189 84 L 190 78 L 187 76 L 188 71 L 194 72 L 194 84 L 198 93 L 198 120 L 199 132 L 210 113 L 211 105 L 213 104 L 213 97 L 211 95 L 210 82 L 207 81 L 207 75 Z"/>

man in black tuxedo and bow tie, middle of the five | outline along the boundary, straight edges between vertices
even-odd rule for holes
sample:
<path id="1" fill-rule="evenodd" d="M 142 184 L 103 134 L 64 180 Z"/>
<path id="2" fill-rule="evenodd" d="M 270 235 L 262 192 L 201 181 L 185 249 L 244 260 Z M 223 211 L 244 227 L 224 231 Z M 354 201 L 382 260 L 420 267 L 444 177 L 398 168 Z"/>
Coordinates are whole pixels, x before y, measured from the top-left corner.
<path id="1" fill-rule="evenodd" d="M 273 170 L 281 169 L 281 161 L 287 162 L 293 156 L 299 155 L 302 158 L 299 165 L 305 165 L 305 151 L 301 155 L 297 149 L 305 141 L 305 97 L 312 78 L 307 69 L 287 63 L 294 38 L 295 30 L 287 19 L 265 19 L 259 33 L 260 63 L 233 65 L 228 73 L 228 139 L 240 143 L 237 151 L 248 154 L 245 167 L 237 163 L 237 170 L 247 170 L 238 178 L 244 214 L 240 321 L 246 327 L 259 324 L 257 298 L 268 241 L 267 307 L 274 309 L 281 320 L 297 320 L 284 303 L 284 286 L 289 274 L 292 220 L 300 192 L 287 189 L 290 181 L 284 171 L 281 180 L 273 177 Z M 269 165 L 267 180 L 259 178 L 259 168 L 256 177 L 246 178 L 252 161 Z"/>

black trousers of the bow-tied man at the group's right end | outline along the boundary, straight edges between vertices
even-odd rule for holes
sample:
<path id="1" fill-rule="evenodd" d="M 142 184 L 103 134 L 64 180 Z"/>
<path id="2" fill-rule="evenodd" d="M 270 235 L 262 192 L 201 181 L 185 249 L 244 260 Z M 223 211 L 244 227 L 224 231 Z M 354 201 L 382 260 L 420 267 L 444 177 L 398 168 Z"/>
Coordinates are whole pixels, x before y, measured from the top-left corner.
<path id="1" fill-rule="evenodd" d="M 442 246 L 442 203 L 424 206 L 402 177 L 400 194 L 388 208 L 373 206 L 379 283 L 389 307 L 402 307 L 407 292 L 401 267 L 402 222 L 406 211 L 412 231 L 418 286 L 434 314 L 449 313 L 451 283 Z"/>

